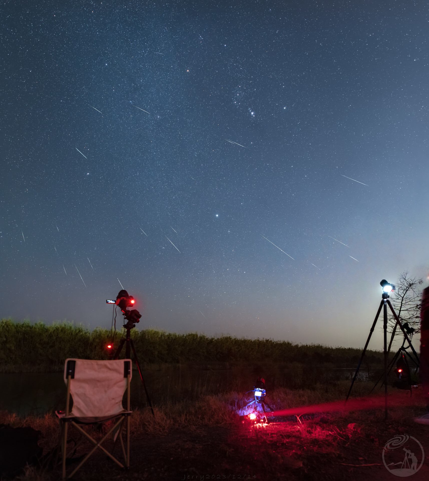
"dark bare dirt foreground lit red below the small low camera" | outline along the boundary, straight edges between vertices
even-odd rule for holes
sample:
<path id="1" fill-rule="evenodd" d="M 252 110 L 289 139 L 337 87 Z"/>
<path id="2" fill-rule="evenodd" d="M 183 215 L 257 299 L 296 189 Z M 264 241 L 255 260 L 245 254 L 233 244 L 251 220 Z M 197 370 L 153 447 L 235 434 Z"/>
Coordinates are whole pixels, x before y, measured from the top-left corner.
<path id="1" fill-rule="evenodd" d="M 77 480 L 392 480 L 383 465 L 385 443 L 398 434 L 415 437 L 425 461 L 413 480 L 429 479 L 429 426 L 413 422 L 421 408 L 355 412 L 251 425 L 237 419 L 228 427 L 172 430 L 138 436 L 131 466 L 124 472 L 101 453 L 81 468 Z M 119 456 L 119 449 L 116 453 Z M 71 471 L 73 464 L 68 468 Z M 31 472 L 25 480 L 57 480 L 58 470 Z"/>

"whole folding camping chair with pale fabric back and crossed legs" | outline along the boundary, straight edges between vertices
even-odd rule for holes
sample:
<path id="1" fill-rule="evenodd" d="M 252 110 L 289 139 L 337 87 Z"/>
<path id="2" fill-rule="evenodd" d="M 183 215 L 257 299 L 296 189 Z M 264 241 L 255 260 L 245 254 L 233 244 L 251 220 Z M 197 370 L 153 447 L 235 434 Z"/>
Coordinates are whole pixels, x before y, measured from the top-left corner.
<path id="1" fill-rule="evenodd" d="M 131 360 L 121 359 L 113 361 L 90 361 L 86 359 L 66 359 L 64 366 L 64 381 L 67 385 L 67 398 L 65 412 L 56 411 L 60 420 L 61 434 L 60 446 L 62 453 L 62 479 L 66 477 L 65 462 L 67 457 L 67 431 L 69 425 L 74 426 L 80 434 L 80 440 L 74 445 L 72 453 L 78 445 L 88 439 L 94 444 L 94 448 L 85 456 L 74 471 L 68 475 L 71 478 L 74 473 L 85 463 L 97 449 L 109 456 L 121 468 L 130 466 L 130 381 L 132 377 Z M 127 409 L 123 409 L 122 398 L 127 390 Z M 71 412 L 70 394 L 73 398 Z M 123 445 L 122 431 L 126 419 L 126 451 Z M 100 425 L 106 421 L 113 421 L 113 427 L 103 436 L 101 441 L 96 441 L 90 432 L 82 429 L 79 425 Z M 95 429 L 96 426 L 93 426 Z M 107 451 L 103 443 L 110 434 L 113 434 L 113 448 L 111 453 Z M 125 466 L 114 456 L 113 450 L 119 441 L 121 442 Z"/>

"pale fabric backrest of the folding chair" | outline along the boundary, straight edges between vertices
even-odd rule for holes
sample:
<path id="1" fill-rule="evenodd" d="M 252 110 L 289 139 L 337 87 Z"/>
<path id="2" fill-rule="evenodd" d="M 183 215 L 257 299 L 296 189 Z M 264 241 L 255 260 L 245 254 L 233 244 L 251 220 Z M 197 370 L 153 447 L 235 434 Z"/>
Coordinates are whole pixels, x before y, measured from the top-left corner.
<path id="1" fill-rule="evenodd" d="M 74 366 L 74 375 L 72 374 L 70 382 L 70 393 L 73 398 L 70 415 L 81 418 L 114 416 L 124 410 L 122 398 L 127 388 L 128 372 L 130 379 L 132 376 L 130 359 L 114 361 L 66 359 L 64 365 L 66 385 L 68 363 L 69 367 Z"/>

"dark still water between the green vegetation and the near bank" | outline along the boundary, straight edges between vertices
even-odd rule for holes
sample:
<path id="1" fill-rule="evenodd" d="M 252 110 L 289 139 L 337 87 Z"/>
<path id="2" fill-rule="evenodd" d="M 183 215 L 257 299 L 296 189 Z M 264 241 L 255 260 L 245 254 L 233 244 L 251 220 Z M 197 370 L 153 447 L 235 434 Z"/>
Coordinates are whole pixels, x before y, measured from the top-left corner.
<path id="1" fill-rule="evenodd" d="M 148 365 L 142 367 L 147 390 L 154 405 L 221 392 L 252 390 L 258 376 L 267 390 L 275 387 L 310 388 L 316 384 L 351 379 L 353 368 L 302 367 L 286 364 L 230 365 Z M 362 370 L 360 380 L 371 373 Z M 0 373 L 0 409 L 20 416 L 42 415 L 64 409 L 66 388 L 63 373 Z M 131 380 L 132 407 L 146 406 L 146 393 L 138 371 Z"/>

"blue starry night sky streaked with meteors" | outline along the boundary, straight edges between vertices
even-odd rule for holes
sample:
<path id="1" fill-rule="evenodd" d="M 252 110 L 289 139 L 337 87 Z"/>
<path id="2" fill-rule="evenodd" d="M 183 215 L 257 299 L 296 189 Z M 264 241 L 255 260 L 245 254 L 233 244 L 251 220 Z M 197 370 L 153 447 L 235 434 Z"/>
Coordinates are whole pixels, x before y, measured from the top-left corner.
<path id="1" fill-rule="evenodd" d="M 429 266 L 428 8 L 3 4 L 0 315 L 362 347 Z"/>

